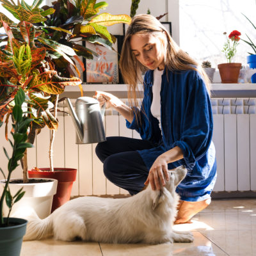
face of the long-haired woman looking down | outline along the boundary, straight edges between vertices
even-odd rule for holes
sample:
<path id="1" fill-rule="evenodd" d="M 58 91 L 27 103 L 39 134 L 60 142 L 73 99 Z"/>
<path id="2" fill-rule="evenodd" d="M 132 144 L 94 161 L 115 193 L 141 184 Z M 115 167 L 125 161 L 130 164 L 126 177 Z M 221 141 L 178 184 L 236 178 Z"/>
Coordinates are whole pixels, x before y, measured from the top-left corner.
<path id="1" fill-rule="evenodd" d="M 154 70 L 164 69 L 164 33 L 163 36 L 140 35 L 131 36 L 131 51 L 135 58 L 145 67 Z"/>

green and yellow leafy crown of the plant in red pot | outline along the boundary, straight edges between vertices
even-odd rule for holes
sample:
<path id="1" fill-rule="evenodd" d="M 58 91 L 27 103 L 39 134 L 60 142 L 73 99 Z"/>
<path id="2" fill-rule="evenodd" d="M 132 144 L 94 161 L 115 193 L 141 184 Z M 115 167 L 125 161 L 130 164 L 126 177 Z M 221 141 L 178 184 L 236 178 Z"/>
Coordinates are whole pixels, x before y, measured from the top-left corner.
<path id="1" fill-rule="evenodd" d="M 112 49 L 115 36 L 108 32 L 106 26 L 118 23 L 129 23 L 129 15 L 111 15 L 110 13 L 99 13 L 106 8 L 106 2 L 96 3 L 96 0 L 58 0 L 52 6 L 42 6 L 43 0 L 35 0 L 31 6 L 23 0 L 14 4 L 8 0 L 0 0 L 3 7 L 9 10 L 15 18 L 33 23 L 36 28 L 36 44 L 42 44 L 47 50 L 54 63 L 55 69 L 61 76 L 80 76 L 75 65 L 74 58 L 84 70 L 83 61 L 78 57 L 93 59 L 95 52 L 90 51 L 81 41 L 92 44 L 100 44 Z M 10 19 L 0 13 L 8 24 Z M 8 20 L 7 20 L 8 19 Z M 73 67 L 73 68 L 72 68 Z"/>

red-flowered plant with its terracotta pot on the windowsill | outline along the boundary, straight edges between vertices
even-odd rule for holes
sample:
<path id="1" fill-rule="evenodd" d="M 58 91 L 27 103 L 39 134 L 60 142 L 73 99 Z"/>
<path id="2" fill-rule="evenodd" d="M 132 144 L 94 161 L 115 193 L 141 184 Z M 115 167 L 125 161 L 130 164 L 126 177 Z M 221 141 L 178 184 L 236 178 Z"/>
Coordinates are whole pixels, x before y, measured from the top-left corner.
<path id="1" fill-rule="evenodd" d="M 233 63 L 232 58 L 234 58 L 236 54 L 236 47 L 239 44 L 239 36 L 241 36 L 241 33 L 234 30 L 230 35 L 228 35 L 228 37 L 226 32 L 224 32 L 223 35 L 225 35 L 227 39 L 222 50 L 222 52 L 225 53 L 227 63 L 221 63 L 218 65 L 221 83 L 237 83 L 242 65 L 241 63 Z"/>

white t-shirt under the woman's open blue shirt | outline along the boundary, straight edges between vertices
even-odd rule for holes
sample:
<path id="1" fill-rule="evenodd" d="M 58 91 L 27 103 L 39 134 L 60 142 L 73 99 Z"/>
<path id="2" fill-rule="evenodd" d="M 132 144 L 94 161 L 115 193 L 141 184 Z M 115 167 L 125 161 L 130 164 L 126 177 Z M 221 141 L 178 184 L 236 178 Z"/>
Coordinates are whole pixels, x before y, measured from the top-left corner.
<path id="1" fill-rule="evenodd" d="M 156 68 L 154 70 L 154 84 L 152 86 L 153 92 L 153 100 L 151 104 L 151 113 L 154 117 L 156 117 L 159 121 L 159 127 L 161 130 L 161 99 L 160 99 L 160 91 L 161 91 L 161 83 L 162 83 L 162 75 L 164 70 L 158 70 Z M 162 130 L 161 130 L 162 131 Z"/>

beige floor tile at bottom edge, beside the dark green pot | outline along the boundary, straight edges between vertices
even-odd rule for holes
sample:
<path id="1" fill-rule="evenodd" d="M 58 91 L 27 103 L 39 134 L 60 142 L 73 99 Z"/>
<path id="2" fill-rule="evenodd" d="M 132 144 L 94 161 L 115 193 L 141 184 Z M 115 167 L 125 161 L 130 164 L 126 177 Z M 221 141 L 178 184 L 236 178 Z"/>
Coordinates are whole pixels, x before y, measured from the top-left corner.
<path id="1" fill-rule="evenodd" d="M 20 256 L 102 256 L 99 243 L 63 242 L 47 239 L 24 241 Z"/>

